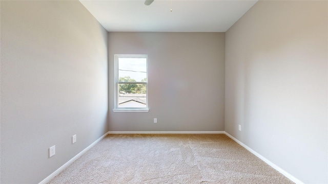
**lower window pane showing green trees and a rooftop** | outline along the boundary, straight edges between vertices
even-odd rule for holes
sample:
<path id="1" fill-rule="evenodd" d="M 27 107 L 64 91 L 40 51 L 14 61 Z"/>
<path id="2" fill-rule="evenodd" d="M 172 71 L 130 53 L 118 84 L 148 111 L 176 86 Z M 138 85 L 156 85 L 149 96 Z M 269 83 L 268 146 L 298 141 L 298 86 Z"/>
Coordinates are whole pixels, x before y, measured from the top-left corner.
<path id="1" fill-rule="evenodd" d="M 118 107 L 146 108 L 146 84 L 118 84 Z"/>

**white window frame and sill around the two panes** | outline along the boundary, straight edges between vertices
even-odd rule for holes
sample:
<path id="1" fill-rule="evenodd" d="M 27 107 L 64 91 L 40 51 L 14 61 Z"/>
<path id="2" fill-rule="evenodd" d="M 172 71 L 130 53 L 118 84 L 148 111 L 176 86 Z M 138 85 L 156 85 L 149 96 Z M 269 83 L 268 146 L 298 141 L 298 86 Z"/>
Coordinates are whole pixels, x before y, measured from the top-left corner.
<path id="1" fill-rule="evenodd" d="M 147 81 L 146 82 L 119 82 L 118 81 L 118 59 L 119 58 L 146 58 L 146 67 L 147 67 Z M 114 55 L 114 112 L 148 112 L 148 55 L 146 54 L 115 54 Z M 121 83 L 131 83 L 131 84 L 146 84 L 146 107 L 118 107 L 118 84 Z"/>

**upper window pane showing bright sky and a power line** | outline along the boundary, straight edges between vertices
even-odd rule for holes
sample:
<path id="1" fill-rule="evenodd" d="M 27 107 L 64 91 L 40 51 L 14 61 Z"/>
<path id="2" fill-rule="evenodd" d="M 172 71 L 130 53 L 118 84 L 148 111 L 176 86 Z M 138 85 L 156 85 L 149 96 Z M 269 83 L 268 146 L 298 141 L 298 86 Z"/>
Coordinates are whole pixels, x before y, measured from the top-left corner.
<path id="1" fill-rule="evenodd" d="M 118 81 L 146 82 L 147 58 L 118 58 Z"/>

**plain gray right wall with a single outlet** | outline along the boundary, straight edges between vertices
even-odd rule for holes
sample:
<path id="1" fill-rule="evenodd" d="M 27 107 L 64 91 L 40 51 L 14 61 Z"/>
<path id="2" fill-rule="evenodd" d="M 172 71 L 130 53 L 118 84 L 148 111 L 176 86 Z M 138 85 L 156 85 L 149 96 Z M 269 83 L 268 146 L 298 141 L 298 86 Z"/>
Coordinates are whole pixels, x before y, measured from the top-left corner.
<path id="1" fill-rule="evenodd" d="M 305 183 L 328 182 L 327 7 L 259 1 L 226 32 L 225 130 Z"/>

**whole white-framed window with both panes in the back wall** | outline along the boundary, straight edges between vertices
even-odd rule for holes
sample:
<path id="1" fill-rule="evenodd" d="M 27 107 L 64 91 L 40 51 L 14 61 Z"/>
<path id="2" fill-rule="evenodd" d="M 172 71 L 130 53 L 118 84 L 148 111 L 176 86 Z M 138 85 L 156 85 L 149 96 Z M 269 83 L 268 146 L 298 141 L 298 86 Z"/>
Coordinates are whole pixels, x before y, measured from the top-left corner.
<path id="1" fill-rule="evenodd" d="M 114 112 L 148 112 L 147 55 L 115 55 Z"/>

